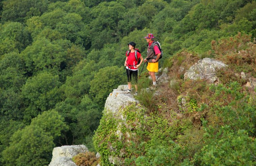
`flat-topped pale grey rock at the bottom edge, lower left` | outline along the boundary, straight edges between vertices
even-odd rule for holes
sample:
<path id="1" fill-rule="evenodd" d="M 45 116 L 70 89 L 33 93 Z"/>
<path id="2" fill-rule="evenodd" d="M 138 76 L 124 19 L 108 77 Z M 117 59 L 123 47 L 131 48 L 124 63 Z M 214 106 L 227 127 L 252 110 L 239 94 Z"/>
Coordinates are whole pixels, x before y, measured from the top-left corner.
<path id="1" fill-rule="evenodd" d="M 53 149 L 53 157 L 49 166 L 76 166 L 72 157 L 79 153 L 88 152 L 84 145 L 62 146 Z"/>

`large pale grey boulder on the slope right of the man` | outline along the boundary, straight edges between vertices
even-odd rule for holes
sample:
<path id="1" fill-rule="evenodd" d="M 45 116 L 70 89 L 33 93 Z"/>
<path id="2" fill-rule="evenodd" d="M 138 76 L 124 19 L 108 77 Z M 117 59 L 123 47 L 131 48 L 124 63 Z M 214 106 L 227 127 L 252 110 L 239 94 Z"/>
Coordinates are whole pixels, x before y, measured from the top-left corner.
<path id="1" fill-rule="evenodd" d="M 184 74 L 184 79 L 205 79 L 209 83 L 218 81 L 216 69 L 221 69 L 227 65 L 215 59 L 204 58 L 191 66 Z"/>

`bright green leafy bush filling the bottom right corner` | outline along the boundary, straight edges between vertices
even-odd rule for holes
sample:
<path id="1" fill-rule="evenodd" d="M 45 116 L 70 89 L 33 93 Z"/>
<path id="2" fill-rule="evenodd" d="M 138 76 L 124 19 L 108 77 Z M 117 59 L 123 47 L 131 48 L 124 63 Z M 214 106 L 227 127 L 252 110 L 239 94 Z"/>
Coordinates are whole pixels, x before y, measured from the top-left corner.
<path id="1" fill-rule="evenodd" d="M 229 126 L 222 126 L 216 134 L 206 133 L 207 145 L 196 158 L 201 165 L 255 165 L 253 154 L 256 143 L 245 130 L 232 132 Z"/>

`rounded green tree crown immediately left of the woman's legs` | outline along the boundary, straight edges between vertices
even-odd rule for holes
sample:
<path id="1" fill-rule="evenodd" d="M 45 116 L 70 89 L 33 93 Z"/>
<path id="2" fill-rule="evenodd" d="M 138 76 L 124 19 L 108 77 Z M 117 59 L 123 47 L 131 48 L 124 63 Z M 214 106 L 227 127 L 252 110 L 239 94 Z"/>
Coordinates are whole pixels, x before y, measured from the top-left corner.
<path id="1" fill-rule="evenodd" d="M 109 93 L 123 82 L 125 82 L 123 68 L 111 66 L 100 69 L 90 83 L 90 95 L 93 97 L 93 101 L 104 108 Z"/>

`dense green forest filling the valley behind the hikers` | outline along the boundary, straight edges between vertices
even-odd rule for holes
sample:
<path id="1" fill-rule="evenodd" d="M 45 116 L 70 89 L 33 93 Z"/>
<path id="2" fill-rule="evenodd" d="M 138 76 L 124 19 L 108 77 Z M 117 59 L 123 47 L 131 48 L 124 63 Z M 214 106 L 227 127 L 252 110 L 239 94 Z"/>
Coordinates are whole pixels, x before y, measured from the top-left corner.
<path id="1" fill-rule="evenodd" d="M 127 43 L 134 41 L 145 58 L 147 42 L 143 37 L 153 33 L 164 50 L 160 65 L 166 66 L 184 50 L 199 58 L 213 57 L 213 40 L 234 37 L 238 32 L 249 35 L 247 42 L 256 37 L 255 0 L 4 0 L 0 2 L 0 19 L 3 166 L 48 165 L 53 148 L 62 145 L 84 144 L 95 151 L 92 137 L 105 100 L 118 85 L 127 84 L 123 66 Z M 248 68 L 255 76 L 253 69 Z M 236 84 L 231 86 L 239 89 Z M 219 87 L 218 91 L 224 94 L 225 90 Z M 243 103 L 244 96 L 233 91 L 231 95 Z M 247 122 L 252 125 L 247 132 L 254 138 L 253 108 L 250 116 L 254 123 Z M 207 130 L 208 136 L 214 137 L 216 131 Z M 234 137 L 225 127 L 222 130 L 225 137 Z M 244 133 L 238 134 L 250 140 Z M 214 146 L 209 143 L 213 151 Z M 194 155 L 199 147 L 189 150 Z M 199 157 L 194 163 L 201 163 Z"/>

